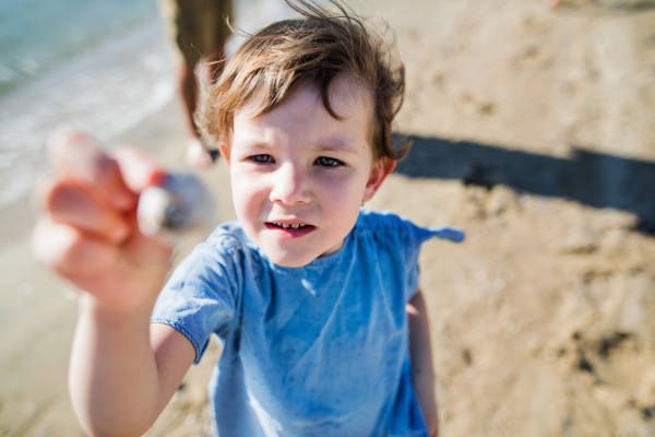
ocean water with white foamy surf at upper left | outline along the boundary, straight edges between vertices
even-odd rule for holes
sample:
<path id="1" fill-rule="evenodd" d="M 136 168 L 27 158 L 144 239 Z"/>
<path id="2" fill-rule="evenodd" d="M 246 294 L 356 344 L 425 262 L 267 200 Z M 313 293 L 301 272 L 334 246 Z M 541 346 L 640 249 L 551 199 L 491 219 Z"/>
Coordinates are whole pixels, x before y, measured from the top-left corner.
<path id="1" fill-rule="evenodd" d="M 252 32 L 290 16 L 282 0 L 238 0 Z M 228 54 L 240 44 L 233 37 Z M 0 213 L 48 173 L 45 145 L 64 128 L 100 141 L 176 96 L 175 56 L 156 0 L 0 1 Z"/>

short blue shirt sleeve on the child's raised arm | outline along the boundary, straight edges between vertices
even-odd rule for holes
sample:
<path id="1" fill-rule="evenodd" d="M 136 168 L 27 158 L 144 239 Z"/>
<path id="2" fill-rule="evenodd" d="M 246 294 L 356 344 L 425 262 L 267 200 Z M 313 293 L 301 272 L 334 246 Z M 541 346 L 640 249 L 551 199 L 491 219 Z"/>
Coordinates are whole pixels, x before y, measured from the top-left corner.
<path id="1" fill-rule="evenodd" d="M 157 298 L 151 323 L 168 324 L 191 341 L 200 362 L 213 332 L 224 336 L 239 298 L 238 250 L 205 241 L 175 269 Z"/>

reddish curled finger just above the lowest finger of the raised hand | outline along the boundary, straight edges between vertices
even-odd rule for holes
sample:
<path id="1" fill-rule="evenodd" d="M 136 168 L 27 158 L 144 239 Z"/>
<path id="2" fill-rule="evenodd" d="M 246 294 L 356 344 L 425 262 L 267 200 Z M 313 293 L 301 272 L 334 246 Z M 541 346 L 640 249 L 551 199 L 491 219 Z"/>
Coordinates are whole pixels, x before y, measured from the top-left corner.
<path id="1" fill-rule="evenodd" d="M 44 185 L 40 206 L 52 221 L 115 243 L 130 235 L 132 229 L 123 214 L 96 202 L 87 191 L 61 181 L 46 181 Z"/>

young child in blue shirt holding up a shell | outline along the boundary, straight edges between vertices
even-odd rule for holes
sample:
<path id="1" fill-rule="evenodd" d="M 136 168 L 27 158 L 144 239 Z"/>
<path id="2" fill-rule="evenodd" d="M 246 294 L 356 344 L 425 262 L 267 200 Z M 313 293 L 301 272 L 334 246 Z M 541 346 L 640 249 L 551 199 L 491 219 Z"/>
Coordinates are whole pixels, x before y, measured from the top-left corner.
<path id="1" fill-rule="evenodd" d="M 52 141 L 33 246 L 84 291 L 70 392 L 92 435 L 144 433 L 212 333 L 224 345 L 215 435 L 438 433 L 418 253 L 463 234 L 360 208 L 406 152 L 390 133 L 403 67 L 366 21 L 291 5 L 303 17 L 250 37 L 204 102 L 238 222 L 160 293 L 171 248 L 142 235 L 134 211 L 163 170 L 80 133 Z"/>

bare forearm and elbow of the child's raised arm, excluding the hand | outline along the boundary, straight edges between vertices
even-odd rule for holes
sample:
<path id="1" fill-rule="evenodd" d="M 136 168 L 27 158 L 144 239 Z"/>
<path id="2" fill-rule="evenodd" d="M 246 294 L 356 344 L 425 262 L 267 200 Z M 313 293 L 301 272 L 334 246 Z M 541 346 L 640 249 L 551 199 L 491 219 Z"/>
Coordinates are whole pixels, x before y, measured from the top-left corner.
<path id="1" fill-rule="evenodd" d="M 191 342 L 150 311 L 105 311 L 84 296 L 73 341 L 69 391 L 92 436 L 141 436 L 157 420 L 193 363 Z"/>

